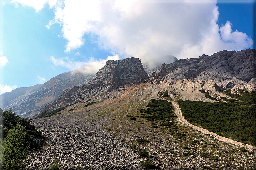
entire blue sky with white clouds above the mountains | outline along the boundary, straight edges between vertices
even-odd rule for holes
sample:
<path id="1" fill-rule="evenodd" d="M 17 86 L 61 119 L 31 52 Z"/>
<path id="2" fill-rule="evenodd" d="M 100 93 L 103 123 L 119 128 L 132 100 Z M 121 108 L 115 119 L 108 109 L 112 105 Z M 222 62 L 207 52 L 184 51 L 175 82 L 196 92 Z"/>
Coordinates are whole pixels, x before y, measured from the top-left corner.
<path id="1" fill-rule="evenodd" d="M 0 0 L 0 94 L 108 59 L 255 48 L 255 1 Z"/>

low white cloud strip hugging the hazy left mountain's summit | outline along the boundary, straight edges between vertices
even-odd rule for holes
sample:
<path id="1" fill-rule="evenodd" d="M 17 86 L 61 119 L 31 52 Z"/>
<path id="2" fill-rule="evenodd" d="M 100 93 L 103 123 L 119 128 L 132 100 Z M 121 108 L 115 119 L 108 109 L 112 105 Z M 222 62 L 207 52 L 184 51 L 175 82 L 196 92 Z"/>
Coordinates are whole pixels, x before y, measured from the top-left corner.
<path id="1" fill-rule="evenodd" d="M 88 62 L 76 62 L 70 60 L 68 57 L 66 58 L 55 58 L 54 56 L 50 57 L 50 60 L 53 62 L 55 66 L 63 66 L 70 70 L 74 70 L 74 72 L 82 72 L 82 73 L 89 73 L 89 74 L 95 74 L 98 72 L 100 68 L 102 68 L 107 60 L 119 60 L 119 55 L 116 54 L 114 56 L 108 56 L 107 59 L 95 59 L 90 58 Z"/>

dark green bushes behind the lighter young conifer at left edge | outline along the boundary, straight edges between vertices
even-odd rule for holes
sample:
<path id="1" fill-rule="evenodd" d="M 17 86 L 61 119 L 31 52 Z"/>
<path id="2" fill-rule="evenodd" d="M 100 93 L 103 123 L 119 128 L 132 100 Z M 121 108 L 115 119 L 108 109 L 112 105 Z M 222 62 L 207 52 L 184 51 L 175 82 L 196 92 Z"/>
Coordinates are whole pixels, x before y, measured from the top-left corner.
<path id="1" fill-rule="evenodd" d="M 33 141 L 35 138 L 43 138 L 41 133 L 36 130 L 34 125 L 30 124 L 30 120 L 27 118 L 20 118 L 12 112 L 11 108 L 8 111 L 4 111 L 0 108 L 0 133 L 1 137 L 7 137 L 9 131 L 15 127 L 18 123 L 25 128 L 26 137 L 25 145 L 30 147 L 37 147 L 38 143 Z"/>

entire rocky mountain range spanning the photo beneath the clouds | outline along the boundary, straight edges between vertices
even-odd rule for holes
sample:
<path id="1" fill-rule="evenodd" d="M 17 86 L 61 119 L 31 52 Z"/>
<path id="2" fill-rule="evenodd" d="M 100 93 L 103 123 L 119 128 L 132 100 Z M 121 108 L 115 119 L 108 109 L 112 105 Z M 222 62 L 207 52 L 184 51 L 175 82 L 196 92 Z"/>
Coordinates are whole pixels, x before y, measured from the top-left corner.
<path id="1" fill-rule="evenodd" d="M 95 76 L 81 72 L 83 69 L 78 68 L 60 74 L 45 84 L 4 93 L 0 96 L 0 107 L 4 110 L 11 107 L 17 115 L 31 118 L 39 111 L 50 111 L 119 88 L 121 92 L 124 89 L 122 86 L 142 82 L 161 84 L 164 88 L 173 86 L 185 92 L 188 90 L 189 94 L 196 88 L 216 91 L 246 88 L 253 91 L 256 83 L 255 56 L 256 50 L 253 49 L 237 52 L 224 50 L 211 56 L 180 60 L 169 55 L 166 56 L 169 64 L 152 67 L 150 63 L 145 63 L 144 68 L 138 58 L 109 60 Z M 185 96 L 183 91 L 180 93 Z"/>

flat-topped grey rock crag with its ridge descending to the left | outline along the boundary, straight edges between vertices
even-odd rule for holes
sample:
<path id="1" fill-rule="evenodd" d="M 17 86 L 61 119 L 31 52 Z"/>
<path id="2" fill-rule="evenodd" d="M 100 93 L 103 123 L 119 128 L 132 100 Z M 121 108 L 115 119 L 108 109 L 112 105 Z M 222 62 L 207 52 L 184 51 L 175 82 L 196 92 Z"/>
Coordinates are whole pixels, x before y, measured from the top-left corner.
<path id="1" fill-rule="evenodd" d="M 148 79 L 148 74 L 138 58 L 108 60 L 90 82 L 64 90 L 57 100 L 47 104 L 40 112 L 51 111 L 73 102 L 110 92 L 126 84 L 141 83 L 146 79 Z"/>

